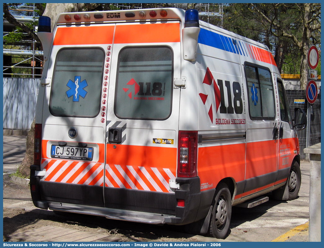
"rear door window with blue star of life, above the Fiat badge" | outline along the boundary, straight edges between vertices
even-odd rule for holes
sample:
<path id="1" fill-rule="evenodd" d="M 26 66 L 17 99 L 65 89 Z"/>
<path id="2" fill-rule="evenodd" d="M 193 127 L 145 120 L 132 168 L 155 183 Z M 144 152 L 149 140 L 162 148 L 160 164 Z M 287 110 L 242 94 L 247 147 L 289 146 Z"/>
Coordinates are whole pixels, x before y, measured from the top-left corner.
<path id="1" fill-rule="evenodd" d="M 98 115 L 104 57 L 101 48 L 64 48 L 57 53 L 50 96 L 52 115 Z"/>

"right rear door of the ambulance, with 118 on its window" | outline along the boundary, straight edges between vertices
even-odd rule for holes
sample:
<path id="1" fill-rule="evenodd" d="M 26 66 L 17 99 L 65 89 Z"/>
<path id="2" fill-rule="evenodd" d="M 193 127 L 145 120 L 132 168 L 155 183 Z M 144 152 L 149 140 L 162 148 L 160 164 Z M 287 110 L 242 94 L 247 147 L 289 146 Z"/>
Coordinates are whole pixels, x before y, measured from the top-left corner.
<path id="1" fill-rule="evenodd" d="M 111 54 L 109 53 L 111 51 Z M 105 67 L 107 104 L 105 205 L 150 209 L 158 204 L 114 197 L 120 189 L 172 193 L 176 178 L 180 89 L 179 21 L 116 24 Z M 107 95 L 107 98 L 106 98 Z M 130 191 L 132 192 L 132 191 Z M 160 206 L 158 206 L 160 207 Z"/>

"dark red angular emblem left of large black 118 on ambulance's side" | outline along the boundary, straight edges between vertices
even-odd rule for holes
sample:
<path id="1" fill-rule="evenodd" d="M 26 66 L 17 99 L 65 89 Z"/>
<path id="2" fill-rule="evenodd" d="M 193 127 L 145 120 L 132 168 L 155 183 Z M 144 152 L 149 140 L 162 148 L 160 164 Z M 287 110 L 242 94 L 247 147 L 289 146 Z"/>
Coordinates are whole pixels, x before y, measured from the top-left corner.
<path id="1" fill-rule="evenodd" d="M 205 77 L 203 79 L 203 84 L 211 85 L 214 89 L 215 102 L 213 102 L 213 98 L 212 98 L 211 99 L 212 103 L 211 103 L 211 105 L 209 107 L 209 111 L 208 111 L 208 116 L 209 116 L 211 122 L 213 123 L 213 105 L 214 105 L 214 103 L 216 104 L 216 113 L 217 113 L 219 105 L 221 103 L 221 92 L 219 90 L 219 87 L 218 87 L 213 75 L 212 75 L 212 72 L 209 70 L 208 67 L 207 67 L 207 70 L 205 73 Z M 199 93 L 199 96 L 202 99 L 203 104 L 206 105 L 208 94 Z M 215 105 L 214 105 L 214 107 L 215 107 Z"/>

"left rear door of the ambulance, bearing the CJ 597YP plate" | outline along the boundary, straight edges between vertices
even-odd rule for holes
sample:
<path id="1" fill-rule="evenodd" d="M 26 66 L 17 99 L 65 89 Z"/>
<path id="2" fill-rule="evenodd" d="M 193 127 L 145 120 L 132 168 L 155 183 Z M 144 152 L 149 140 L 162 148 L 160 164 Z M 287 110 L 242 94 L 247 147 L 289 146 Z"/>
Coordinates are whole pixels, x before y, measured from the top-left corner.
<path id="1" fill-rule="evenodd" d="M 104 206 L 103 81 L 114 26 L 56 30 L 42 115 L 43 200 Z"/>

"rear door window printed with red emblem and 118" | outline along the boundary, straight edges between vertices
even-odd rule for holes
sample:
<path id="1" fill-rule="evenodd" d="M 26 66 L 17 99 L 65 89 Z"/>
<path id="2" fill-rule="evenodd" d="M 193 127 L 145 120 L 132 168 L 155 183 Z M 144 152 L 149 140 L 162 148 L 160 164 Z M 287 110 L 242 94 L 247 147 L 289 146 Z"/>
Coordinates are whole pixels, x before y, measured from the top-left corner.
<path id="1" fill-rule="evenodd" d="M 168 46 L 128 46 L 118 57 L 114 112 L 121 119 L 171 115 L 173 52 Z"/>

